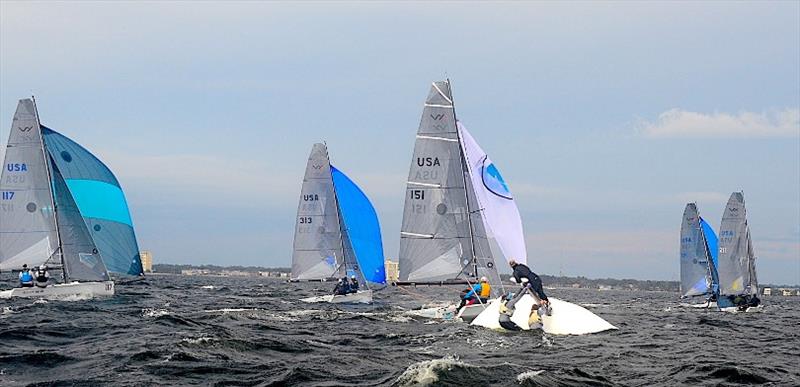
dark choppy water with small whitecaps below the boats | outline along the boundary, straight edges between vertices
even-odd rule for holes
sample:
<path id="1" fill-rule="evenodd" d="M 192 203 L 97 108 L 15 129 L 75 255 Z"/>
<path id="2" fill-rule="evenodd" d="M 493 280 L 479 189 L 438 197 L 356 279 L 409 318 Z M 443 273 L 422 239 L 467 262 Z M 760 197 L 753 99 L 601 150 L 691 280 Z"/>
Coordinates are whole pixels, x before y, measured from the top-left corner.
<path id="1" fill-rule="evenodd" d="M 403 315 L 455 288 L 297 301 L 332 286 L 152 276 L 105 300 L 0 300 L 0 385 L 800 384 L 800 297 L 724 314 L 669 293 L 553 289 L 620 330 L 550 336 Z"/>

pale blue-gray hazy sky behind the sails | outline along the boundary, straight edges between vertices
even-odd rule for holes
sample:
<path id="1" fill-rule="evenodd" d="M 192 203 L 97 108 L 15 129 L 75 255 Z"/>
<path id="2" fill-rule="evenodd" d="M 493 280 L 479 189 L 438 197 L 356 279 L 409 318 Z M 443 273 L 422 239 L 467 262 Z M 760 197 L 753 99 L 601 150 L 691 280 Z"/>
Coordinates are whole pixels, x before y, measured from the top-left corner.
<path id="1" fill-rule="evenodd" d="M 677 280 L 685 204 L 743 190 L 760 282 L 800 284 L 798 2 L 0 2 L 2 148 L 35 95 L 156 263 L 290 266 L 320 141 L 396 259 L 444 78 L 535 271 Z"/>

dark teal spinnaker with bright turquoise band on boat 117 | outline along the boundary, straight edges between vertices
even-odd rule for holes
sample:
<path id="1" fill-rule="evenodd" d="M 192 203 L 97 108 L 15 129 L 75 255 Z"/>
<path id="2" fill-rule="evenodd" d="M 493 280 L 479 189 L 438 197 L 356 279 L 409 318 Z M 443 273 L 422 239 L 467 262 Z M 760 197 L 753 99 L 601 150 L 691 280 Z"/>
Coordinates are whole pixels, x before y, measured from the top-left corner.
<path id="1" fill-rule="evenodd" d="M 50 157 L 69 187 L 109 272 L 143 273 L 128 203 L 117 178 L 102 161 L 66 136 L 42 126 Z"/>

